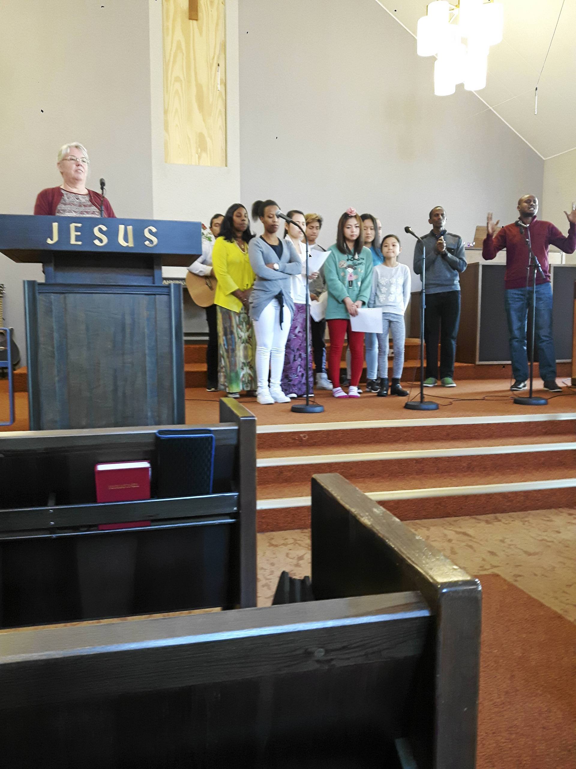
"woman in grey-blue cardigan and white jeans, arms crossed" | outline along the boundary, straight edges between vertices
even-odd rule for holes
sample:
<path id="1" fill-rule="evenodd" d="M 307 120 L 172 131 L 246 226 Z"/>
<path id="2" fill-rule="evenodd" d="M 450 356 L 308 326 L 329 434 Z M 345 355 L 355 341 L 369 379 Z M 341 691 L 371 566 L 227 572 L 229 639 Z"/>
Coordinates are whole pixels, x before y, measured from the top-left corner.
<path id="1" fill-rule="evenodd" d="M 254 203 L 252 217 L 260 219 L 264 232 L 260 238 L 252 238 L 248 246 L 250 265 L 256 274 L 250 294 L 250 318 L 256 334 L 257 401 L 261 404 L 290 403 L 282 391 L 280 378 L 294 314 L 290 278 L 302 271 L 300 257 L 292 243 L 276 235 L 280 227 L 276 211 L 278 205 L 273 200 Z"/>

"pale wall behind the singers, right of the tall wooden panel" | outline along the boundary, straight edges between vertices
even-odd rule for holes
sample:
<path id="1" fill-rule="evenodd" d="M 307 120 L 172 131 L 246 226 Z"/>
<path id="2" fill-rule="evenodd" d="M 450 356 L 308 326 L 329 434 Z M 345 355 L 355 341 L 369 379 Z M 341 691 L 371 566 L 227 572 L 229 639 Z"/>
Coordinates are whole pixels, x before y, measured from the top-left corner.
<path id="1" fill-rule="evenodd" d="M 541 158 L 475 95 L 435 97 L 432 60 L 376 0 L 242 0 L 239 26 L 246 205 L 318 211 L 323 245 L 349 205 L 400 234 L 443 205 L 471 241 L 488 210 L 512 221 L 541 194 Z"/>

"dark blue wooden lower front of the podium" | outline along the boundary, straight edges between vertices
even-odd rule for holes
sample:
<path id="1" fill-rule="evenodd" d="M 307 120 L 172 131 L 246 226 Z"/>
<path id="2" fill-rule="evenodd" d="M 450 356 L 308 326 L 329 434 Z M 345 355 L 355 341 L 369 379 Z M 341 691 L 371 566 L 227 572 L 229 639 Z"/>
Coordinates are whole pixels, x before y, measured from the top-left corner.
<path id="1" fill-rule="evenodd" d="M 25 281 L 31 430 L 184 424 L 180 285 Z"/>

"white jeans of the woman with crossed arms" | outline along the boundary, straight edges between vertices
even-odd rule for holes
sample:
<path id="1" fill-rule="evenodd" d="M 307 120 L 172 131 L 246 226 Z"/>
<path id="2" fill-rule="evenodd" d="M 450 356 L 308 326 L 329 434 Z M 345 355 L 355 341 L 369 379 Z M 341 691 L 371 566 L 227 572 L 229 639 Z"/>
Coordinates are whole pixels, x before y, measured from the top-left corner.
<path id="1" fill-rule="evenodd" d="M 260 313 L 257 321 L 252 321 L 256 334 L 256 378 L 258 390 L 270 387 L 280 389 L 280 379 L 284 368 L 284 349 L 292 323 L 292 313 L 284 305 L 283 324 L 280 328 L 280 305 L 273 299 Z"/>

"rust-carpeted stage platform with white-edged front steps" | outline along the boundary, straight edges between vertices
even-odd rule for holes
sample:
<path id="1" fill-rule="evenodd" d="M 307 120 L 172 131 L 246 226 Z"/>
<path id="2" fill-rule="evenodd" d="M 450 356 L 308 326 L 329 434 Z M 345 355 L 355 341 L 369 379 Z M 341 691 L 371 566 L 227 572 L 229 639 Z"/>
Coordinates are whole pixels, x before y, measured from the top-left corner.
<path id="1" fill-rule="evenodd" d="M 343 474 L 402 520 L 573 507 L 576 389 L 559 381 L 561 394 L 535 382 L 545 407 L 515 405 L 508 379 L 426 388 L 440 405 L 432 412 L 372 393 L 342 401 L 319 391 L 325 411 L 310 415 L 242 397 L 258 418 L 258 530 L 310 526 L 310 478 L 319 472 Z M 187 423 L 217 422 L 219 398 L 188 388 Z M 1 414 L 7 401 L 0 381 Z M 25 393 L 16 393 L 16 410 L 10 429 L 28 429 Z"/>

